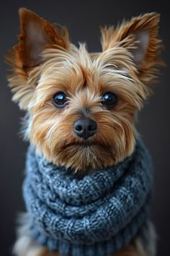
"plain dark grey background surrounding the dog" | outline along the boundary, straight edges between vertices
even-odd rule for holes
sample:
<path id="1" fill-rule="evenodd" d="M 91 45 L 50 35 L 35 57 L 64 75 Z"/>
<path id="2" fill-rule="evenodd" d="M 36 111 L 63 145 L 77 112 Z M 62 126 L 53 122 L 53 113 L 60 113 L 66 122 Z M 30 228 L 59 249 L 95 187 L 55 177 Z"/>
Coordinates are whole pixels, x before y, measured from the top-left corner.
<path id="1" fill-rule="evenodd" d="M 146 103 L 139 115 L 138 130 L 151 150 L 155 163 L 155 195 L 151 217 L 158 232 L 158 255 L 169 253 L 170 218 L 170 156 L 169 156 L 169 11 L 166 2 L 159 1 L 3 1 L 1 4 L 1 61 L 0 61 L 0 255 L 11 255 L 14 242 L 15 219 L 24 210 L 22 180 L 27 144 L 19 138 L 19 118 L 24 115 L 11 102 L 6 82 L 4 54 L 17 43 L 19 33 L 18 8 L 27 7 L 50 22 L 67 25 L 73 43 L 86 41 L 89 51 L 99 51 L 99 25 L 117 24 L 145 12 L 161 14 L 160 36 L 164 40 L 162 54 L 166 68 L 161 69 L 161 79 L 155 95 Z"/>

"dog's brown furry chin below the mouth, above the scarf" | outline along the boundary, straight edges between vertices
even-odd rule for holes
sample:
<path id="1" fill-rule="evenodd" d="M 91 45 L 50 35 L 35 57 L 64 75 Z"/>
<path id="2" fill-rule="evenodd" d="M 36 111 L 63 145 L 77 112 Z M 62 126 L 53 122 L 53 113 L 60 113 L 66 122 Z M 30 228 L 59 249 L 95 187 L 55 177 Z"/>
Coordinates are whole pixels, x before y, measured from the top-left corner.
<path id="1" fill-rule="evenodd" d="M 116 162 L 114 148 L 99 142 L 70 142 L 63 145 L 56 154 L 55 163 L 71 168 L 80 175 L 93 174 Z"/>

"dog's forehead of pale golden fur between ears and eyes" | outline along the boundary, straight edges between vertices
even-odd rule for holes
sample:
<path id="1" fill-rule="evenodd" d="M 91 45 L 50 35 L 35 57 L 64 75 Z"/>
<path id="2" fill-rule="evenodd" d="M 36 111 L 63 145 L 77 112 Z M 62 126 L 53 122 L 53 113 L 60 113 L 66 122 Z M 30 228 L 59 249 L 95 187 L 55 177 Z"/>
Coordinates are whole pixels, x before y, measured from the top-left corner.
<path id="1" fill-rule="evenodd" d="M 45 90 L 63 91 L 74 94 L 84 88 L 93 93 L 117 90 L 115 85 L 126 83 L 132 77 L 133 67 L 122 58 L 119 48 L 112 51 L 91 54 L 85 45 L 73 51 L 47 49 L 45 62 L 40 67 L 40 84 Z M 120 86 L 120 85 L 119 85 Z M 121 86 L 120 86 L 121 87 Z"/>

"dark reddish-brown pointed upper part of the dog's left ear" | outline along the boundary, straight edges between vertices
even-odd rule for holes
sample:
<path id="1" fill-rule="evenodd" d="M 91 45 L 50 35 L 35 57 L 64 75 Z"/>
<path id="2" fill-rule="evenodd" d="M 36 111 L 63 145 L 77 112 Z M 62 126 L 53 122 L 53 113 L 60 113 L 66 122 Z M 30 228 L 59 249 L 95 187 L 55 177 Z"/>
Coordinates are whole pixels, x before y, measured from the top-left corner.
<path id="1" fill-rule="evenodd" d="M 24 69 L 36 67 L 42 63 L 41 53 L 45 47 L 55 45 L 68 48 L 68 33 L 63 30 L 63 36 L 50 22 L 43 20 L 35 12 L 19 9 L 21 34 L 19 44 L 14 47 Z"/>

